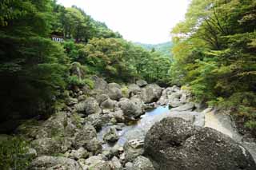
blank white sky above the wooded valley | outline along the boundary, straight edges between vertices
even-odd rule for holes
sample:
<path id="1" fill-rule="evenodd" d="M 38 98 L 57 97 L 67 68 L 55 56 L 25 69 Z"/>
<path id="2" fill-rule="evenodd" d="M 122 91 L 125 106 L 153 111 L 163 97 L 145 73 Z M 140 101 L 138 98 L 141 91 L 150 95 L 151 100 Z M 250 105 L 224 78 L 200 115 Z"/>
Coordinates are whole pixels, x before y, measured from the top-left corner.
<path id="1" fill-rule="evenodd" d="M 78 6 L 131 42 L 170 42 L 170 30 L 186 14 L 189 0 L 58 0 Z"/>

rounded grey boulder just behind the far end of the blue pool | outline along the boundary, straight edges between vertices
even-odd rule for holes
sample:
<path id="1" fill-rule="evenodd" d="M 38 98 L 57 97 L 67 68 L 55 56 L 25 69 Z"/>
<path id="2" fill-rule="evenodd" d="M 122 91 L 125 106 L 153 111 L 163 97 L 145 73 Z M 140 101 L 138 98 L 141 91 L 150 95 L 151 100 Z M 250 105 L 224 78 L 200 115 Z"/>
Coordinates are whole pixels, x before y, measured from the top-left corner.
<path id="1" fill-rule="evenodd" d="M 142 88 L 142 101 L 145 103 L 151 103 L 154 101 L 158 101 L 158 99 L 161 97 L 162 94 L 162 88 L 159 87 L 156 84 L 152 85 L 146 85 L 146 87 Z"/>

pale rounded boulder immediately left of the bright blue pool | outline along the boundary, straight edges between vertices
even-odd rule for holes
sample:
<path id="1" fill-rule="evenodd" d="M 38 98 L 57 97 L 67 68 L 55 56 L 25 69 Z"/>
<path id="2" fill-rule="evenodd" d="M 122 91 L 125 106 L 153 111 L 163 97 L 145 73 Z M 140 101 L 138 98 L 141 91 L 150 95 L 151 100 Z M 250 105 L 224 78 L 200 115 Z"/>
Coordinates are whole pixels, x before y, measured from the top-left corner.
<path id="1" fill-rule="evenodd" d="M 138 101 L 138 99 L 134 99 L 133 101 L 127 98 L 122 99 L 122 101 L 118 102 L 118 106 L 122 109 L 124 116 L 132 120 L 138 118 L 144 113 L 141 101 Z"/>

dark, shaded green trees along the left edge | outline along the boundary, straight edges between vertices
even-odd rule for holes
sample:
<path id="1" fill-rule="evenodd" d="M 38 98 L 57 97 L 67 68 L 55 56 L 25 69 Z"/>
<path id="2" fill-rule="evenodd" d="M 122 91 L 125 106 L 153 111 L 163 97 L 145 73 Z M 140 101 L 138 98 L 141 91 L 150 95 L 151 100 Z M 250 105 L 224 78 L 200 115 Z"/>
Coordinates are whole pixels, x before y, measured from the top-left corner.
<path id="1" fill-rule="evenodd" d="M 0 26 L 1 121 L 52 113 L 55 98 L 65 88 L 66 57 L 50 40 L 51 6 L 46 1 L 4 1 L 15 9 Z M 9 14 L 9 13 L 8 13 Z"/>

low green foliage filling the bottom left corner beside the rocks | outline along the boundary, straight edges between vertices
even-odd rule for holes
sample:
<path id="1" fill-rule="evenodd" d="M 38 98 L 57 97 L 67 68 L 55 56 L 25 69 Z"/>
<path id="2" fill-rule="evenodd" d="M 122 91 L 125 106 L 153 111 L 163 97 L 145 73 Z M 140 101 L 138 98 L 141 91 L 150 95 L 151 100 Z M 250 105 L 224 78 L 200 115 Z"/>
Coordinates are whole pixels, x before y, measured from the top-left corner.
<path id="1" fill-rule="evenodd" d="M 18 137 L 6 137 L 0 140 L 0 168 L 2 170 L 22 170 L 30 164 L 30 156 L 26 156 L 27 144 Z"/>

